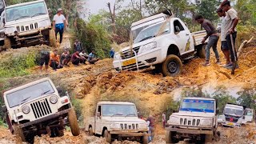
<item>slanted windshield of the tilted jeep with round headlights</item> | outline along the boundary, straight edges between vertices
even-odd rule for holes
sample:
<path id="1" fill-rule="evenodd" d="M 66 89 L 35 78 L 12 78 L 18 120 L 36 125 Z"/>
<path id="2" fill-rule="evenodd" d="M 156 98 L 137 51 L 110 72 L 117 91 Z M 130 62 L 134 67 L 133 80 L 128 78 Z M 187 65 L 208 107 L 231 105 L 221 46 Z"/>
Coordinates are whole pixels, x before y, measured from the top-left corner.
<path id="1" fill-rule="evenodd" d="M 33 86 L 26 87 L 22 90 L 6 94 L 6 98 L 10 108 L 12 108 L 14 106 L 21 105 L 22 103 L 28 102 L 34 98 L 38 98 L 42 95 L 52 93 L 54 93 L 54 88 L 51 86 L 49 81 L 45 81 L 35 84 Z"/>

